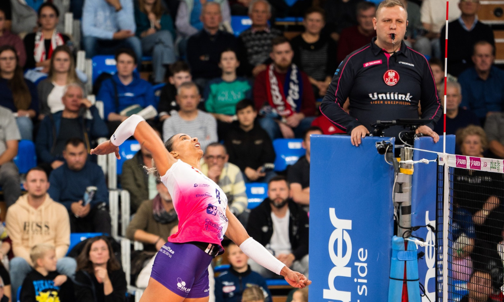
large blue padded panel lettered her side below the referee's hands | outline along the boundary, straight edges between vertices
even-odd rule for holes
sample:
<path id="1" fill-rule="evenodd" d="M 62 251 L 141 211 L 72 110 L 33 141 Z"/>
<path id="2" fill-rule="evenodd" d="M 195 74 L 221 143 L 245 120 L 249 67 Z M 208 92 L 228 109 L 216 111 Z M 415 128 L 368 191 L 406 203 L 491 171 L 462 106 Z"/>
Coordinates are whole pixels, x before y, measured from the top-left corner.
<path id="1" fill-rule="evenodd" d="M 309 301 L 386 302 L 394 169 L 375 143 L 311 136 Z"/>

